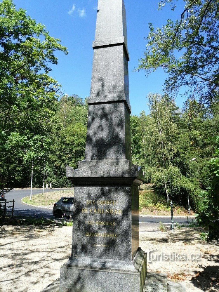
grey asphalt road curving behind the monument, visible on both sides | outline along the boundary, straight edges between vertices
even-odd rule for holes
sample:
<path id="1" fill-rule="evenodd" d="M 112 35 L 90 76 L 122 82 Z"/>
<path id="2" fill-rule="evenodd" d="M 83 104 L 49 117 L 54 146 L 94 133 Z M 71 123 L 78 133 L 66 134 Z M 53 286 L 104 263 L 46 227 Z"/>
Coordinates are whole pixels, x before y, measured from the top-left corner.
<path id="1" fill-rule="evenodd" d="M 47 192 L 54 192 L 58 190 L 70 190 L 70 189 L 44 189 L 44 193 L 46 195 Z M 42 189 L 32 189 L 32 194 L 42 193 Z M 30 189 L 22 189 L 22 190 L 11 190 L 9 193 L 5 195 L 7 200 L 12 201 L 15 199 L 14 205 L 14 215 L 15 216 L 31 216 L 31 217 L 41 217 L 44 218 L 52 218 L 53 213 L 52 210 L 32 207 L 25 205 L 21 202 L 23 197 L 30 195 Z M 166 225 L 171 225 L 171 216 L 170 217 L 161 217 L 161 216 L 140 216 L 139 217 L 139 227 L 140 230 L 143 230 L 145 226 L 156 226 L 159 225 L 159 222 L 163 222 Z M 175 217 L 174 222 L 178 222 L 179 224 L 188 224 L 186 217 Z"/>

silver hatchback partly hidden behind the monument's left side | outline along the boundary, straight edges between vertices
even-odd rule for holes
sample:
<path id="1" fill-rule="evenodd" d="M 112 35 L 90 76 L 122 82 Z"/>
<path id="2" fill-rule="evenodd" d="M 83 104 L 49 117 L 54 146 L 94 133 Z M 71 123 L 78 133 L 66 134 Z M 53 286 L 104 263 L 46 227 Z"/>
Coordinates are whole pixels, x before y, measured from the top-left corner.
<path id="1" fill-rule="evenodd" d="M 73 215 L 74 197 L 62 197 L 53 206 L 53 215 L 55 218 L 62 218 L 65 216 Z"/>

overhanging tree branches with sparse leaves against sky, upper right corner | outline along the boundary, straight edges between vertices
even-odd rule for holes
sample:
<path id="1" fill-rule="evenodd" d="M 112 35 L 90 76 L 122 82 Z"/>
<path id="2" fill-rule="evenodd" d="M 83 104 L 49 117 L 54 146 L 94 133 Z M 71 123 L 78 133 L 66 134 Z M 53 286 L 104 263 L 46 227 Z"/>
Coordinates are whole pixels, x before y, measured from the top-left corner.
<path id="1" fill-rule="evenodd" d="M 176 0 L 177 1 L 177 0 Z M 162 0 L 159 9 L 175 0 Z M 147 50 L 137 70 L 147 74 L 161 67 L 168 73 L 164 89 L 176 95 L 186 86 L 187 98 L 211 105 L 218 102 L 219 86 L 219 1 L 184 0 L 178 20 L 168 19 L 162 28 L 149 24 Z"/>

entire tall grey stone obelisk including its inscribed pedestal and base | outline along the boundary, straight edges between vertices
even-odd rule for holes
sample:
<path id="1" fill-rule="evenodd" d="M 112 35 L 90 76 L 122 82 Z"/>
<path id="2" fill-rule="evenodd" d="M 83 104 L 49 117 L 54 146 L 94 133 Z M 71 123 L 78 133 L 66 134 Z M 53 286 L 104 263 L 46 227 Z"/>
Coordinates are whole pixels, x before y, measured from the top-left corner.
<path id="1" fill-rule="evenodd" d="M 60 292 L 140 292 L 147 274 L 139 248 L 138 186 L 131 162 L 126 11 L 98 0 L 85 160 L 67 167 L 75 185 L 72 256 Z"/>

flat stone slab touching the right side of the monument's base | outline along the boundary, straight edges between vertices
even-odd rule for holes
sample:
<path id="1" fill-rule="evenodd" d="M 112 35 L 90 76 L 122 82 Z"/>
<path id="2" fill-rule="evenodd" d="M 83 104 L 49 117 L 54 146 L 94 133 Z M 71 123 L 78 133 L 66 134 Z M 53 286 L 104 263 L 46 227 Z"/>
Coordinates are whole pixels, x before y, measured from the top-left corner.
<path id="1" fill-rule="evenodd" d="M 143 292 L 167 292 L 167 275 L 164 273 L 147 273 Z"/>

